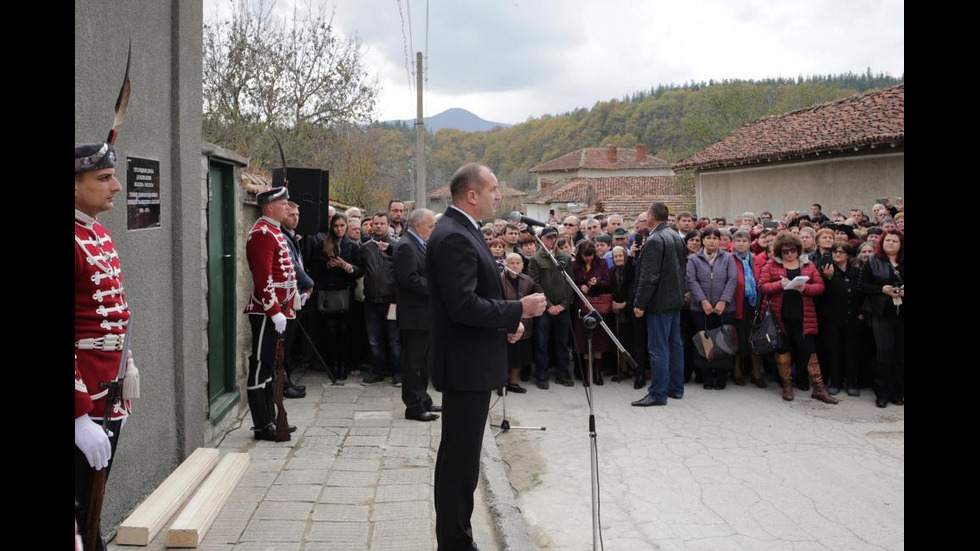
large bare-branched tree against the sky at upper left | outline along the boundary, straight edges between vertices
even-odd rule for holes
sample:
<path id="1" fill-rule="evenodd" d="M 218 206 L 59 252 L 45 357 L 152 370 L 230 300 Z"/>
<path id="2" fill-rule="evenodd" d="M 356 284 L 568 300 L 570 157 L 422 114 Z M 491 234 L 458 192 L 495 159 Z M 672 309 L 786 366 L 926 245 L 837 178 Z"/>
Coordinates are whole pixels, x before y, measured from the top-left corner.
<path id="1" fill-rule="evenodd" d="M 231 0 L 228 19 L 205 25 L 205 138 L 251 153 L 266 149 L 257 136 L 270 128 L 298 137 L 304 127 L 370 122 L 378 84 L 356 35 L 338 36 L 322 7 L 291 18 L 274 7 Z"/>

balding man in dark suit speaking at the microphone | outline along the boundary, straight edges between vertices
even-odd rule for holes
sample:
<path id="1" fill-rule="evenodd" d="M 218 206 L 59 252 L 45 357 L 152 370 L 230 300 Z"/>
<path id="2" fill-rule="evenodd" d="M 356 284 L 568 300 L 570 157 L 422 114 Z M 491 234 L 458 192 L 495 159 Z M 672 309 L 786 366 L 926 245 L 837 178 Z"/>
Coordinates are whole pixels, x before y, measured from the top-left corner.
<path id="1" fill-rule="evenodd" d="M 432 232 L 426 254 L 432 380 L 443 393 L 435 473 L 440 551 L 476 549 L 470 516 L 490 393 L 507 384 L 507 342 L 523 333 L 521 318 L 540 316 L 545 308 L 541 293 L 503 300 L 496 262 L 477 222 L 493 218 L 500 201 L 493 172 L 464 165 L 449 191 L 453 204 Z"/>

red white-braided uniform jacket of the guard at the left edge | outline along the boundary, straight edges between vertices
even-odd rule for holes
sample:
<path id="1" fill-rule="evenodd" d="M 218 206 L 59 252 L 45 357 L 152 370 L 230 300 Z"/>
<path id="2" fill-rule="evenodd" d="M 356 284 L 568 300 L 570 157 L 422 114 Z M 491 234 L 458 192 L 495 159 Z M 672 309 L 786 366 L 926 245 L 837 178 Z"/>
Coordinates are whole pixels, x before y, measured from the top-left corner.
<path id="1" fill-rule="evenodd" d="M 75 418 L 105 414 L 108 383 L 119 375 L 129 305 L 123 289 L 119 254 L 109 231 L 75 210 Z M 122 401 L 111 419 L 129 415 Z"/>

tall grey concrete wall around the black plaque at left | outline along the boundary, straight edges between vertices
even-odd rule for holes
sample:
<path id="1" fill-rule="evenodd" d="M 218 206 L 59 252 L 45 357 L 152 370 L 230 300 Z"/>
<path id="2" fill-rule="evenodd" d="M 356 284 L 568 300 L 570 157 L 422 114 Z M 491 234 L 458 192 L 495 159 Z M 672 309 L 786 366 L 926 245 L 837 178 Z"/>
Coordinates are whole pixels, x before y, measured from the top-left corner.
<path id="1" fill-rule="evenodd" d="M 160 161 L 161 227 L 126 230 L 124 201 L 100 220 L 113 233 L 135 313 L 133 354 L 143 397 L 126 425 L 103 511 L 111 528 L 204 443 L 200 304 L 200 3 L 75 4 L 75 140 L 105 139 L 133 40 L 133 97 L 117 141 L 125 157 Z"/>

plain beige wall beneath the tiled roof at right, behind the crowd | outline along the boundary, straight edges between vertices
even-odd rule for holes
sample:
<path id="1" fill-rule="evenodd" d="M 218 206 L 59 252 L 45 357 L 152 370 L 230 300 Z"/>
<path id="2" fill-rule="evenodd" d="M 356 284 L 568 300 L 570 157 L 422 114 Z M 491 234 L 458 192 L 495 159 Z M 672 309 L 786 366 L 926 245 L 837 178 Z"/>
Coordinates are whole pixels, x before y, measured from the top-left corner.
<path id="1" fill-rule="evenodd" d="M 905 152 L 702 172 L 695 177 L 697 214 L 725 216 L 764 210 L 777 218 L 820 203 L 824 213 L 870 212 L 880 197 L 905 196 Z"/>

